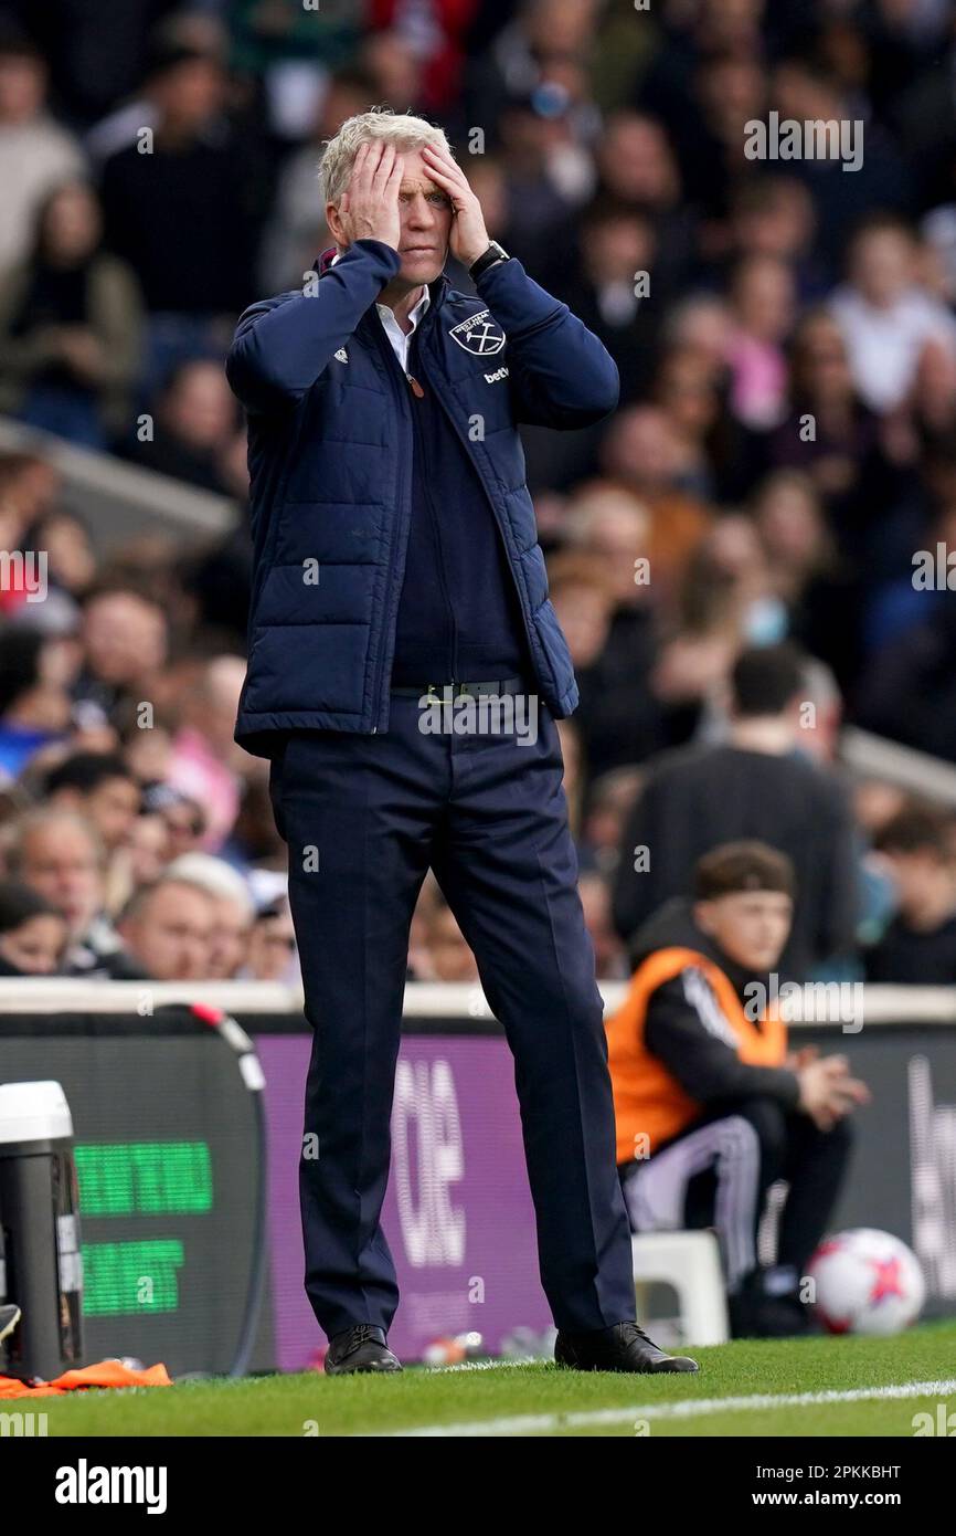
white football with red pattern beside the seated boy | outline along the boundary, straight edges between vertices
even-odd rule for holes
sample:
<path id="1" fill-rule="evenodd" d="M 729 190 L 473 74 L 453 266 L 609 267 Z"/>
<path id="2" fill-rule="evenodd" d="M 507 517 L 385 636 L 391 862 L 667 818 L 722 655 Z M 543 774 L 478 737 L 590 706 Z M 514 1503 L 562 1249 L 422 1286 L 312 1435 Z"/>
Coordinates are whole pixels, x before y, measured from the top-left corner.
<path id="1" fill-rule="evenodd" d="M 925 1298 L 913 1250 L 875 1227 L 824 1238 L 807 1273 L 816 1286 L 816 1315 L 830 1333 L 901 1333 Z"/>

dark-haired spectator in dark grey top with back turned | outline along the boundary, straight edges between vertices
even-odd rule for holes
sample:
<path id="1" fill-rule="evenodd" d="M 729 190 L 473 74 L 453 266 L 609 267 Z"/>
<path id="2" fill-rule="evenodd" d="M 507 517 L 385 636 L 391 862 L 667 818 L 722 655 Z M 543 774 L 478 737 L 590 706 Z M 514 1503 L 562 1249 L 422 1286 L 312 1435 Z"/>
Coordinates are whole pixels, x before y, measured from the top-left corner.
<path id="1" fill-rule="evenodd" d="M 853 817 L 841 785 L 799 751 L 804 702 L 796 651 L 747 650 L 732 673 L 727 740 L 651 766 L 614 882 L 614 923 L 626 943 L 666 900 L 689 889 L 703 854 L 758 839 L 787 854 L 796 871 L 781 974 L 803 980 L 852 948 L 859 915 Z"/>

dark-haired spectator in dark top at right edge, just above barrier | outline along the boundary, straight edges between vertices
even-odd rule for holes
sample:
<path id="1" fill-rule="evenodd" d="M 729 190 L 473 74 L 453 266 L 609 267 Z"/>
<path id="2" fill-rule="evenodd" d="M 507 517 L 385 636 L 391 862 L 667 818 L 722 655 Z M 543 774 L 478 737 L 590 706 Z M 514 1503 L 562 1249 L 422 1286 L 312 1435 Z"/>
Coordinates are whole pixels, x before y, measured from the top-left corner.
<path id="1" fill-rule="evenodd" d="M 896 914 L 864 949 L 867 982 L 951 986 L 956 982 L 956 842 L 953 816 L 911 803 L 876 833 Z"/>

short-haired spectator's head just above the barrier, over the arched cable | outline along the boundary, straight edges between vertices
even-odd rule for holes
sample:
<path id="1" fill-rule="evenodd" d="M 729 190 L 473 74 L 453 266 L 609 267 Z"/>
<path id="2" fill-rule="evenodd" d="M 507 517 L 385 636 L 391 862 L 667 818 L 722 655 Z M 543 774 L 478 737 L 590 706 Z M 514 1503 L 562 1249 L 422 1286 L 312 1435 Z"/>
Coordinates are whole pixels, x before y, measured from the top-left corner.
<path id="1" fill-rule="evenodd" d="M 120 980 L 206 982 L 210 975 L 216 903 L 204 885 L 160 876 L 141 885 L 117 917 Z"/>

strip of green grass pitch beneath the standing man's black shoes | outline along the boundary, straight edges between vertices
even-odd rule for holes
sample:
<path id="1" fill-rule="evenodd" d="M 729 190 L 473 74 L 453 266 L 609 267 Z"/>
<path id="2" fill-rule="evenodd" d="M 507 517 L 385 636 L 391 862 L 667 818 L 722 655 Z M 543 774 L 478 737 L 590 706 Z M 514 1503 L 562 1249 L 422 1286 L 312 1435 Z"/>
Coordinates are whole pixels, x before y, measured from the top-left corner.
<path id="1" fill-rule="evenodd" d="M 740 1339 L 694 1353 L 695 1376 L 493 1364 L 204 1379 L 0 1407 L 34 1407 L 64 1436 L 913 1436 L 918 1413 L 931 1415 L 933 1433 L 941 1422 L 956 1432 L 956 1319 L 890 1339 Z"/>

